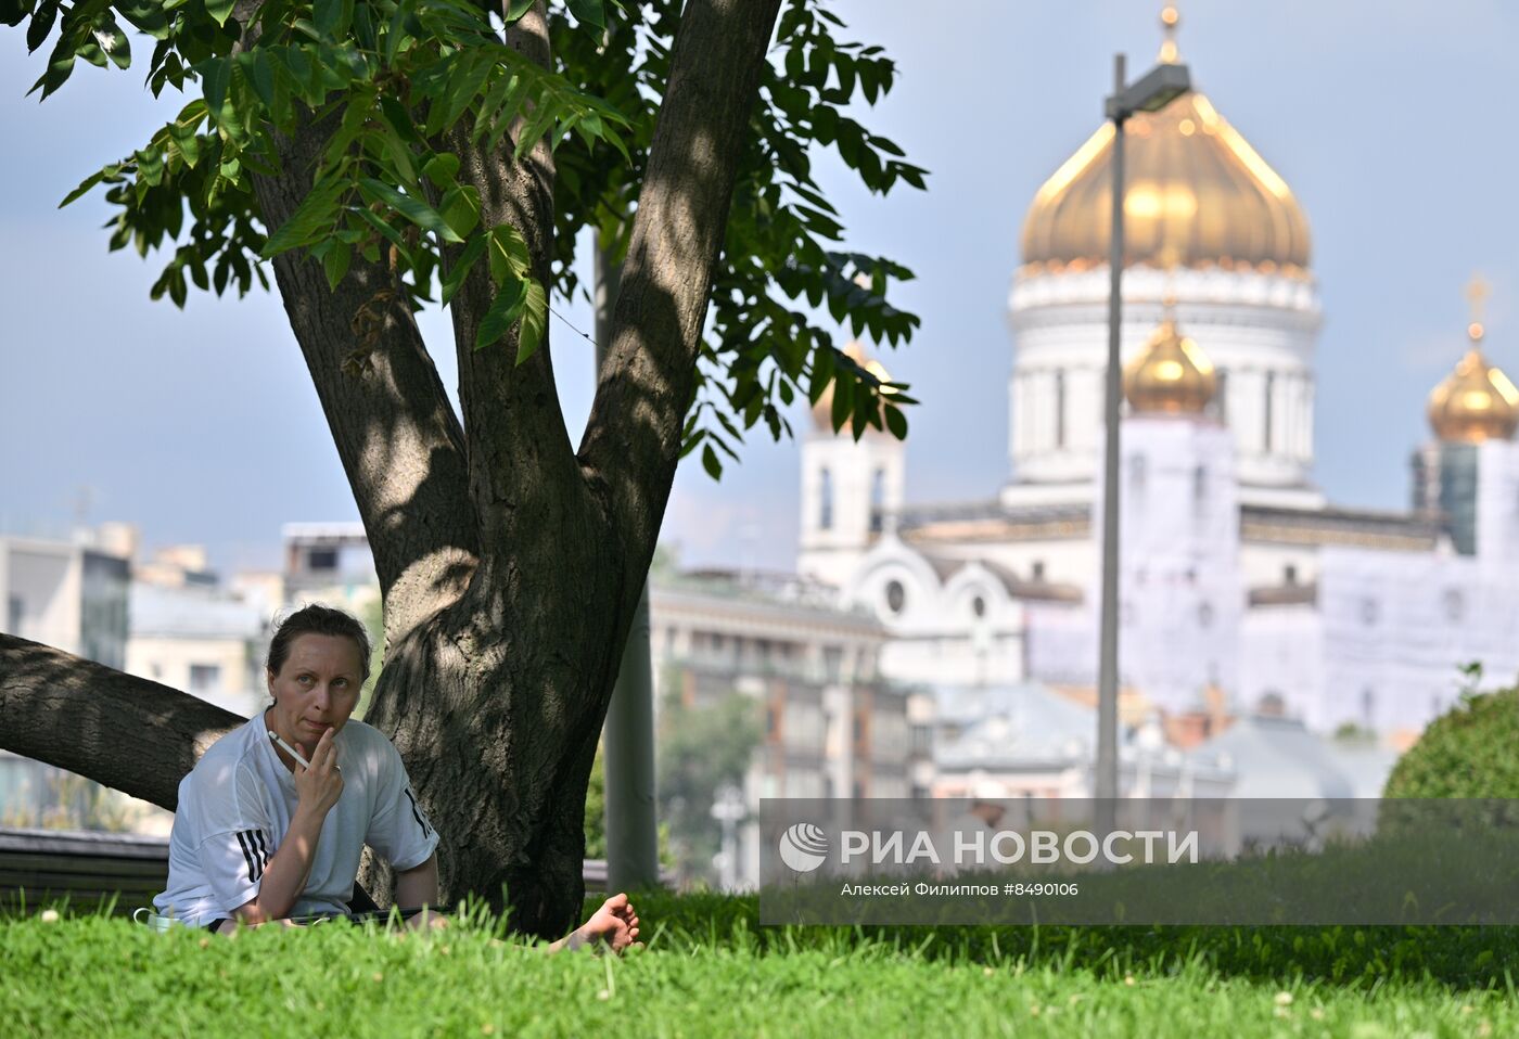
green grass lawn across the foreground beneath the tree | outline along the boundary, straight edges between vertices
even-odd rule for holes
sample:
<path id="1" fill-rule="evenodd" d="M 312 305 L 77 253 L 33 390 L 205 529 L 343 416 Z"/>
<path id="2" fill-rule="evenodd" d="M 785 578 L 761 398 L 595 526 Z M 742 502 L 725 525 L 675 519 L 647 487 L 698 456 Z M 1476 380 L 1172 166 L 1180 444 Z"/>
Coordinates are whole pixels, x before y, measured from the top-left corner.
<path id="1" fill-rule="evenodd" d="M 0 919 L 5 1036 L 1516 1036 L 1519 928 L 758 928 L 753 899 L 636 899 L 649 948 L 234 939 Z"/>

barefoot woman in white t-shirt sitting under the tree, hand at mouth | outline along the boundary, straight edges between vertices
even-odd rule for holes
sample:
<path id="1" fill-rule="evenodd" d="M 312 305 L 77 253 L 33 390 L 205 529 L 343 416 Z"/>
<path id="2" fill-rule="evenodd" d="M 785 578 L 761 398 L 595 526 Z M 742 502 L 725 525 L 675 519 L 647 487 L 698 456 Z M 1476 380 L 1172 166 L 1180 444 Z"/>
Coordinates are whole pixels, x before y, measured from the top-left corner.
<path id="1" fill-rule="evenodd" d="M 369 845 L 395 869 L 407 924 L 441 925 L 427 911 L 437 904 L 437 832 L 396 749 L 348 717 L 369 677 L 365 626 L 305 606 L 275 632 L 267 676 L 273 703 L 217 740 L 179 784 L 169 890 L 153 905 L 213 931 L 346 916 Z M 615 895 L 551 948 L 605 940 L 620 952 L 636 937 L 638 916 Z"/>

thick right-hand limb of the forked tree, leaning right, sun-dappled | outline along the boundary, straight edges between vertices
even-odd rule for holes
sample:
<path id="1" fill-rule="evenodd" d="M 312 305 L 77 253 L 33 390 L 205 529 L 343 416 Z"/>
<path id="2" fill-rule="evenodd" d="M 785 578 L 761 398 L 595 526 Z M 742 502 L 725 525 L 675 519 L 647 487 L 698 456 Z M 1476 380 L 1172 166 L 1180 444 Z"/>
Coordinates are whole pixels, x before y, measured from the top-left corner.
<path id="1" fill-rule="evenodd" d="M 691 0 L 670 56 L 612 342 L 580 445 L 627 562 L 647 568 L 670 497 L 702 322 L 779 0 Z M 638 594 L 641 580 L 626 588 Z"/>

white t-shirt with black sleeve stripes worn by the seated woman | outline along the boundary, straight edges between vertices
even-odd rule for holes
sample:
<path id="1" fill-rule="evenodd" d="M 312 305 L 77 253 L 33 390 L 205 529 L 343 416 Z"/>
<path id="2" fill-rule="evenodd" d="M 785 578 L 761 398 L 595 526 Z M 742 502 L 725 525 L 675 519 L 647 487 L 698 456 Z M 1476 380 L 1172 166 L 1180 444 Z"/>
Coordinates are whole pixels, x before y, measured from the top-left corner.
<path id="1" fill-rule="evenodd" d="M 333 741 L 343 793 L 322 822 L 311 873 L 290 916 L 345 913 L 365 845 L 396 870 L 421 866 L 437 848 L 390 741 L 363 722 L 349 722 Z M 295 776 L 275 753 L 260 711 L 217 740 L 181 781 L 169 890 L 153 905 L 201 927 L 232 916 L 258 895 L 298 802 Z"/>

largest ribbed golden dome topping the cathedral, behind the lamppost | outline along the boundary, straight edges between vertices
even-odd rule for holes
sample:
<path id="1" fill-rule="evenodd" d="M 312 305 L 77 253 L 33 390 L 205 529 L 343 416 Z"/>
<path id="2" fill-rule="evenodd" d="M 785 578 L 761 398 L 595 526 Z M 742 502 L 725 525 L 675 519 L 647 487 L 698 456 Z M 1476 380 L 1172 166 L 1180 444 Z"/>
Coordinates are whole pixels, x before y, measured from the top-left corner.
<path id="1" fill-rule="evenodd" d="M 1167 8 L 1162 61 L 1176 61 L 1176 21 Z M 1024 270 L 1107 264 L 1112 150 L 1107 122 L 1039 188 L 1024 220 Z M 1306 272 L 1308 219 L 1291 188 L 1203 94 L 1129 118 L 1124 179 L 1130 264 Z"/>

